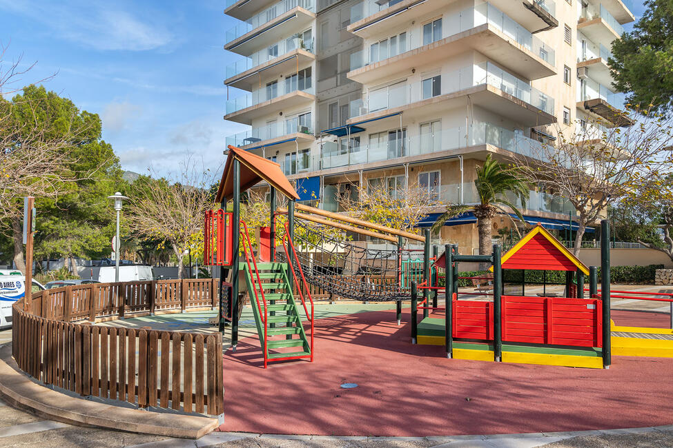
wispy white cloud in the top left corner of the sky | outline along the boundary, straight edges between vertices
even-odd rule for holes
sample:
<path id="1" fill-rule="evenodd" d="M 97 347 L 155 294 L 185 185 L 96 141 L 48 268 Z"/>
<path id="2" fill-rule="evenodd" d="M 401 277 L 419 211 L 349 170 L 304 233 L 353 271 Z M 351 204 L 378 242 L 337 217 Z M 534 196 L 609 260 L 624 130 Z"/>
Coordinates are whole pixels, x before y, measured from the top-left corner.
<path id="1" fill-rule="evenodd" d="M 165 26 L 156 23 L 155 14 L 135 17 L 113 9 L 110 3 L 95 3 L 0 0 L 0 8 L 43 23 L 61 39 L 96 50 L 154 50 L 174 39 Z"/>

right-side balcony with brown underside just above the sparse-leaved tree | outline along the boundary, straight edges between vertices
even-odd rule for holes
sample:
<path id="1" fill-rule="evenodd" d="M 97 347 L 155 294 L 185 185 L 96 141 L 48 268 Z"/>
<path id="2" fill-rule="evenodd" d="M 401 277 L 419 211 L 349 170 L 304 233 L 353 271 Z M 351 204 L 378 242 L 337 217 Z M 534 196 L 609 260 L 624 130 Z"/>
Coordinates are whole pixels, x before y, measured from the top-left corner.
<path id="1" fill-rule="evenodd" d="M 630 126 L 632 119 L 623 113 L 625 94 L 609 90 L 605 85 L 584 79 L 578 89 L 577 108 L 588 110 L 607 120 L 605 125 Z"/>

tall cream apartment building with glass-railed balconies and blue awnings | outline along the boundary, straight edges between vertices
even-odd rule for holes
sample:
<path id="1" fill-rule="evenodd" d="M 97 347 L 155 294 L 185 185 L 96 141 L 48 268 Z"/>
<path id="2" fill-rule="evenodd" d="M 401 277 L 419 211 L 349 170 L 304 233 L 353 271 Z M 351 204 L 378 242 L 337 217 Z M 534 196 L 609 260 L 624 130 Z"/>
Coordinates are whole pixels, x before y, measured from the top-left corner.
<path id="1" fill-rule="evenodd" d="M 634 20 L 621 0 L 228 0 L 225 13 L 240 20 L 224 45 L 240 58 L 224 119 L 251 126 L 226 144 L 277 161 L 326 210 L 373 184 L 475 203 L 487 154 L 531 156 L 589 117 L 630 124 L 607 69 Z M 546 192 L 523 212 L 572 227 Z M 442 241 L 474 249 L 475 223 L 449 221 Z M 494 234 L 510 225 L 494 219 Z"/>

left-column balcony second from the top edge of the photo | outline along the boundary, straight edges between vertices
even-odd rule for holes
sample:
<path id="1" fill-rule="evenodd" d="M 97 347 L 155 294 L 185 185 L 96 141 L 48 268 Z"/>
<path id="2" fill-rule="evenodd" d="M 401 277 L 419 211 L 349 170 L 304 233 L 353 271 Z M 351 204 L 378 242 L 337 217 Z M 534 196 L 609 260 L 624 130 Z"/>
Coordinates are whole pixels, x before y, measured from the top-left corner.
<path id="1" fill-rule="evenodd" d="M 315 0 L 282 0 L 225 33 L 225 50 L 252 54 L 283 37 L 308 28 L 315 20 Z"/>

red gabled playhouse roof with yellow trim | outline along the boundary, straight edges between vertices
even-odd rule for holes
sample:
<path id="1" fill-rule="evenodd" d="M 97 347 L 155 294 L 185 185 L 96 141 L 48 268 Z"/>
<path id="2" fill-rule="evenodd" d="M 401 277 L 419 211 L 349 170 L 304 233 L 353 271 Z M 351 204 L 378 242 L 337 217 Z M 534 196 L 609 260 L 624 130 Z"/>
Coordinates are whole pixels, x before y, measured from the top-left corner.
<path id="1" fill-rule="evenodd" d="M 501 259 L 503 269 L 576 271 L 589 275 L 589 268 L 538 224 Z M 491 266 L 490 270 L 493 270 Z"/>

